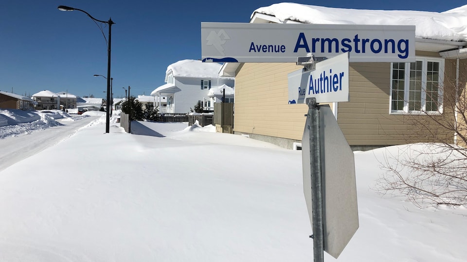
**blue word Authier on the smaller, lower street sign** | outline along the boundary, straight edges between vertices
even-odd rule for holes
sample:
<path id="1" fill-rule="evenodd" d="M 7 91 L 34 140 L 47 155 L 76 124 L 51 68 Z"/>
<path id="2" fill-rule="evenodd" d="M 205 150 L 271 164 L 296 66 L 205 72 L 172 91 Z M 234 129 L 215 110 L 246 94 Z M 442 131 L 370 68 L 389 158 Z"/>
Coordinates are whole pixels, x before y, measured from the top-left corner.
<path id="1" fill-rule="evenodd" d="M 316 74 L 310 74 L 308 78 L 308 95 L 342 91 L 344 72 L 333 74 L 332 69 L 329 69 L 328 75 L 326 75 L 326 71 L 321 72 L 319 78 L 316 79 L 313 79 L 313 75 L 316 76 Z"/>

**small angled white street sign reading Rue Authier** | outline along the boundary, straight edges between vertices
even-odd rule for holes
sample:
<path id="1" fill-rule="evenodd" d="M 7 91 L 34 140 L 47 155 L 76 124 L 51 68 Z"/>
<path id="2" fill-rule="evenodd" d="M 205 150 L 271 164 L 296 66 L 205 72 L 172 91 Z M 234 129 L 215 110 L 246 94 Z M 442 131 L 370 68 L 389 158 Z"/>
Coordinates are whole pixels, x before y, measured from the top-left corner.
<path id="1" fill-rule="evenodd" d="M 288 74 L 288 103 L 349 101 L 349 53 L 316 63 L 315 70 L 299 69 Z"/>

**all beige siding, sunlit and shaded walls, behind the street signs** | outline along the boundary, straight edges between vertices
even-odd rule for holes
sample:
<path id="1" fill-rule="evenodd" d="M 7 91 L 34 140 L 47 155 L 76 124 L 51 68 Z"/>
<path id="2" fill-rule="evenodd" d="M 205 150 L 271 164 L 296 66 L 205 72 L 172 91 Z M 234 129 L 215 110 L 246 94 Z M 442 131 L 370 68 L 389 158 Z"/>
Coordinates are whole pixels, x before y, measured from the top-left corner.
<path id="1" fill-rule="evenodd" d="M 432 52 L 417 55 L 439 56 Z M 235 78 L 234 130 L 301 140 L 307 106 L 289 105 L 287 86 L 287 74 L 300 68 L 293 63 L 245 63 Z M 433 121 L 454 121 L 446 106 L 442 116 L 390 115 L 390 74 L 391 63 L 350 64 L 350 102 L 338 106 L 338 123 L 348 143 L 386 146 L 429 142 L 434 141 L 433 133 L 437 139 L 452 142 L 452 132 Z M 444 82 L 445 89 L 452 90 L 455 60 L 446 60 Z"/>

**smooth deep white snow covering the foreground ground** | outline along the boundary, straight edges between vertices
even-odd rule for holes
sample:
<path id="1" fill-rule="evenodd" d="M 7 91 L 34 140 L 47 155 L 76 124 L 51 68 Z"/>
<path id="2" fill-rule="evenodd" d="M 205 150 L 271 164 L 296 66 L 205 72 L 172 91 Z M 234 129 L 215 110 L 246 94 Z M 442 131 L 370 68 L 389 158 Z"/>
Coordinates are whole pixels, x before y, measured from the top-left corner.
<path id="1" fill-rule="evenodd" d="M 0 171 L 0 261 L 313 260 L 300 151 L 186 123 L 105 134 L 104 118 Z M 337 261 L 465 262 L 466 207 L 372 190 L 398 148 L 355 153 L 360 227 Z"/>

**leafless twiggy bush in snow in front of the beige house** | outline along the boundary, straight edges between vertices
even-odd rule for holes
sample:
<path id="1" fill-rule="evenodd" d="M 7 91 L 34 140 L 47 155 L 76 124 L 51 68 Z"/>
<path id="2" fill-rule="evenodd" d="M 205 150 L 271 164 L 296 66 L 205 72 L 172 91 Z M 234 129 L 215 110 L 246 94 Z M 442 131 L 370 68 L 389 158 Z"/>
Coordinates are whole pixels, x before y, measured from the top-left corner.
<path id="1" fill-rule="evenodd" d="M 442 99 L 427 92 L 437 114 L 422 109 L 405 117 L 407 143 L 423 144 L 379 160 L 385 171 L 377 181 L 380 193 L 406 197 L 420 207 L 467 204 L 467 73 L 459 70 L 464 73 L 458 80 L 446 75 Z"/>

